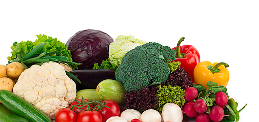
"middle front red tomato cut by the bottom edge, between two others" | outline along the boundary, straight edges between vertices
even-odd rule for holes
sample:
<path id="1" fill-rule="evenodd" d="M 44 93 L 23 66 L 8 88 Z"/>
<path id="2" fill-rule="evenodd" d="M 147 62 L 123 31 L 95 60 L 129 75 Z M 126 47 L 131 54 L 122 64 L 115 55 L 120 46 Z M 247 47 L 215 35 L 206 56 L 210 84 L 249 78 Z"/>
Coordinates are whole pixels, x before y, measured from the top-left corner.
<path id="1" fill-rule="evenodd" d="M 98 111 L 81 110 L 77 116 L 77 122 L 102 122 L 102 115 Z"/>

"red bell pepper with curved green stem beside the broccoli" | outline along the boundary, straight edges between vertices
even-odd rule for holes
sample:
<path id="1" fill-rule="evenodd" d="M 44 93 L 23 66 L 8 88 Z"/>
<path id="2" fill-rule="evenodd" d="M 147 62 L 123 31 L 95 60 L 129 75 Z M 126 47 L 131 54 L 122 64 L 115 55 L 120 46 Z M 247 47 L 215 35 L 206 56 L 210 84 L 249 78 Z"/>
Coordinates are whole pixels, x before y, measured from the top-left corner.
<path id="1" fill-rule="evenodd" d="M 182 37 L 178 43 L 177 46 L 173 49 L 176 50 L 176 58 L 175 60 L 171 62 L 180 62 L 180 67 L 183 68 L 189 75 L 189 77 L 192 78 L 192 83 L 194 83 L 194 68 L 195 66 L 200 63 L 200 54 L 198 50 L 192 46 L 192 45 L 182 45 L 180 46 L 181 42 L 184 40 L 184 37 Z"/>

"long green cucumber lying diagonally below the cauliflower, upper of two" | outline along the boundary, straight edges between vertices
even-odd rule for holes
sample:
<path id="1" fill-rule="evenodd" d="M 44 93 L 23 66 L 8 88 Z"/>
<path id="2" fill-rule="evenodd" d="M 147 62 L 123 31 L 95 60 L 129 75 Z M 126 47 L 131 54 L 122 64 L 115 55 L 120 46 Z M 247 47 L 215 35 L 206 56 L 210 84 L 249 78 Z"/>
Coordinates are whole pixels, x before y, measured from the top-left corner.
<path id="1" fill-rule="evenodd" d="M 0 101 L 15 114 L 34 122 L 51 122 L 42 111 L 8 90 L 0 90 Z"/>

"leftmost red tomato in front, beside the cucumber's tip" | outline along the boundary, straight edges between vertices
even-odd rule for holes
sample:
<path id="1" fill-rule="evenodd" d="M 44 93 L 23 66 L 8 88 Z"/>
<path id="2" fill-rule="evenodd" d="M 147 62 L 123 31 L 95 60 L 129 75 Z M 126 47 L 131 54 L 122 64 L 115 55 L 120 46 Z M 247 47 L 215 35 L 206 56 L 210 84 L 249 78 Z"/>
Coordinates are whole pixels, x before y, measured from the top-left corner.
<path id="1" fill-rule="evenodd" d="M 76 122 L 77 113 L 69 108 L 61 108 L 55 115 L 56 122 Z"/>

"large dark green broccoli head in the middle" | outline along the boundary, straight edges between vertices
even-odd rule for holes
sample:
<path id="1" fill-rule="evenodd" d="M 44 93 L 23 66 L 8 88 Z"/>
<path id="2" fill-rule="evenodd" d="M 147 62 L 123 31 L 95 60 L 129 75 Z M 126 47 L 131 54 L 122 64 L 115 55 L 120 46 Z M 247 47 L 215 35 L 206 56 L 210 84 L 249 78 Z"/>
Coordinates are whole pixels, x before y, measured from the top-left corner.
<path id="1" fill-rule="evenodd" d="M 166 82 L 170 73 L 169 60 L 175 57 L 174 49 L 156 42 L 137 46 L 124 55 L 115 78 L 124 83 L 127 92 Z"/>

